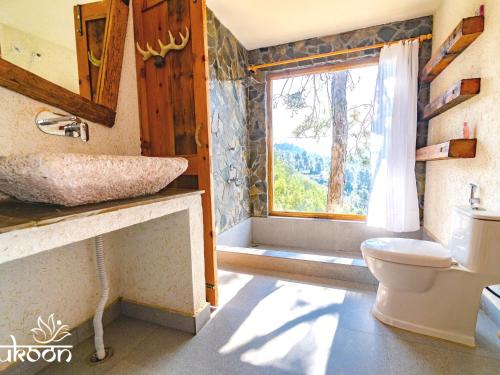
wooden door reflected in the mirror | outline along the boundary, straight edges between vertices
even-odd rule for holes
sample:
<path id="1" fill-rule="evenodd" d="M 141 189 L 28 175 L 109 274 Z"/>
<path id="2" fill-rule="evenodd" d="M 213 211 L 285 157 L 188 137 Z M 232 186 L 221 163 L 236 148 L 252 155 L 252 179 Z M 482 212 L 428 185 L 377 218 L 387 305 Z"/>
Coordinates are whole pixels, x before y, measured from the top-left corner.
<path id="1" fill-rule="evenodd" d="M 101 64 L 92 63 L 89 53 L 102 63 L 108 10 L 106 0 L 73 8 L 80 95 L 93 101 L 96 101 Z"/>

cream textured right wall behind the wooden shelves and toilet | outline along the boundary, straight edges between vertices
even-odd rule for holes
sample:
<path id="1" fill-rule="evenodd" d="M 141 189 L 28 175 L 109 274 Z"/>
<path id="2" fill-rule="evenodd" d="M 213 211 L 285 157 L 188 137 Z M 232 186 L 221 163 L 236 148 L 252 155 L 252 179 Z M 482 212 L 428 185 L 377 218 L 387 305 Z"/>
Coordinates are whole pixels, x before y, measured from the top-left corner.
<path id="1" fill-rule="evenodd" d="M 475 159 L 427 163 L 424 226 L 439 241 L 448 242 L 451 209 L 467 205 L 469 182 L 480 186 L 481 204 L 500 210 L 500 2 L 498 0 L 443 0 L 434 15 L 433 48 L 465 17 L 485 4 L 485 31 L 432 83 L 431 99 L 462 78 L 481 78 L 481 93 L 434 118 L 429 144 L 460 138 L 463 122 L 476 127 Z"/>

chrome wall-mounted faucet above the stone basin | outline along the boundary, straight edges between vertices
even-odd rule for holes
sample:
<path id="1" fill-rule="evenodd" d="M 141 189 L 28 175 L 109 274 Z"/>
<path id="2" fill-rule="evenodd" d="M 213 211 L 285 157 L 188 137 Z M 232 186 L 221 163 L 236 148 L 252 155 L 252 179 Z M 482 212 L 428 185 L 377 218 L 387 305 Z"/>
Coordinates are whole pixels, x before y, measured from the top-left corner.
<path id="1" fill-rule="evenodd" d="M 58 117 L 54 117 L 54 115 Z M 35 117 L 35 124 L 45 134 L 80 138 L 83 142 L 89 140 L 89 126 L 74 115 L 41 111 Z"/>

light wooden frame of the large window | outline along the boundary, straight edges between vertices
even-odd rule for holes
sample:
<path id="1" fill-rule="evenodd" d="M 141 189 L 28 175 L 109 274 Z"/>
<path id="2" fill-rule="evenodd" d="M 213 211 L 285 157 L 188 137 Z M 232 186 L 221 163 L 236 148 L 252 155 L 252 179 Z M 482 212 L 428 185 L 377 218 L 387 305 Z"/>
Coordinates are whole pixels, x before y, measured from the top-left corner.
<path id="1" fill-rule="evenodd" d="M 268 215 L 269 216 L 282 216 L 282 217 L 297 217 L 297 218 L 311 218 L 311 219 L 331 219 L 331 220 L 347 220 L 347 221 L 365 221 L 366 215 L 356 214 L 334 214 L 326 212 L 293 212 L 293 211 L 276 211 L 274 209 L 274 182 L 273 182 L 273 80 L 299 77 L 309 74 L 318 74 L 324 72 L 334 72 L 339 70 L 346 70 L 349 68 L 361 68 L 378 64 L 378 56 L 364 57 L 352 61 L 340 62 L 335 64 L 327 64 L 320 66 L 313 66 L 308 68 L 294 68 L 287 69 L 276 73 L 268 73 L 266 75 L 266 107 L 267 107 L 267 189 L 268 189 Z"/>

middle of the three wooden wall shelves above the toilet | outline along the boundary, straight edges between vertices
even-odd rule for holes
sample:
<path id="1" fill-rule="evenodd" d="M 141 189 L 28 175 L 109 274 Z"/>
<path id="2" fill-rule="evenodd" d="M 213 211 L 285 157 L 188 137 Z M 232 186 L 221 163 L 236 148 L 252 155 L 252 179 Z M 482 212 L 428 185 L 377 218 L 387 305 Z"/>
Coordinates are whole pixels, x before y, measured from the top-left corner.
<path id="1" fill-rule="evenodd" d="M 479 94 L 481 90 L 481 78 L 462 79 L 446 90 L 438 98 L 427 104 L 424 108 L 423 120 L 431 118 L 447 111 L 450 108 Z"/>

